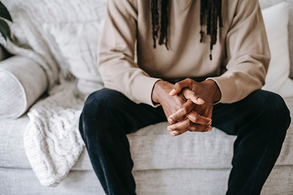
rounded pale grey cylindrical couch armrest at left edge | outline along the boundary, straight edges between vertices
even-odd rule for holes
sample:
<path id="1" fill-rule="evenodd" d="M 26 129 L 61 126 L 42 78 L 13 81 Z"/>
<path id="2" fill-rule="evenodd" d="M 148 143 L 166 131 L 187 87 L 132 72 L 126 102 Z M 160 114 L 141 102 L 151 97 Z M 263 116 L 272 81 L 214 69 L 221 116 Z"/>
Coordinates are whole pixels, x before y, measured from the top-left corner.
<path id="1" fill-rule="evenodd" d="M 47 89 L 47 78 L 33 60 L 13 56 L 0 61 L 0 118 L 17 118 Z"/>

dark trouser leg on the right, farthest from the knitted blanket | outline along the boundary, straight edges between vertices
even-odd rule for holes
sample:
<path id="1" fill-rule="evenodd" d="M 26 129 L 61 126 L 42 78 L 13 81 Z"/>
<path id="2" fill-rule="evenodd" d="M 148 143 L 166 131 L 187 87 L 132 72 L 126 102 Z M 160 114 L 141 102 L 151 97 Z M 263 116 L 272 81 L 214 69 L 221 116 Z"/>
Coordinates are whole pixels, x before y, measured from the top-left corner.
<path id="1" fill-rule="evenodd" d="M 214 106 L 212 126 L 237 135 L 227 195 L 260 194 L 290 122 L 284 100 L 262 90 L 241 101 Z"/>

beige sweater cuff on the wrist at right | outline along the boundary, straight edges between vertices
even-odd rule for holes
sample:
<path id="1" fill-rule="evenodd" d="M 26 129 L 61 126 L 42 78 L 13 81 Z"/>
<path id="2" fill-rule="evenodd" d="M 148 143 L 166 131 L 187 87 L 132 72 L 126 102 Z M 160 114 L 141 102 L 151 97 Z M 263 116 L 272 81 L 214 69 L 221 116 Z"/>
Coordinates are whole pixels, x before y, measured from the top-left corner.
<path id="1" fill-rule="evenodd" d="M 237 101 L 238 86 L 233 75 L 222 75 L 207 78 L 206 80 L 215 81 L 221 91 L 221 98 L 217 103 L 233 103 Z"/>

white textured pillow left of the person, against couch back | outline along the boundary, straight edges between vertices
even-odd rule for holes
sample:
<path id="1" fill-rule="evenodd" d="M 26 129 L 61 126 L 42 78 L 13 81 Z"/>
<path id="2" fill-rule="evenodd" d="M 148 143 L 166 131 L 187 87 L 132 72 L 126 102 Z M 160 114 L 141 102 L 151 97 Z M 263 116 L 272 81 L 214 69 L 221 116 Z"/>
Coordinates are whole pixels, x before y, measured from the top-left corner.
<path id="1" fill-rule="evenodd" d="M 97 67 L 97 50 L 103 24 L 104 20 L 43 25 L 57 43 L 70 73 L 77 78 L 77 90 L 84 95 L 104 86 Z"/>

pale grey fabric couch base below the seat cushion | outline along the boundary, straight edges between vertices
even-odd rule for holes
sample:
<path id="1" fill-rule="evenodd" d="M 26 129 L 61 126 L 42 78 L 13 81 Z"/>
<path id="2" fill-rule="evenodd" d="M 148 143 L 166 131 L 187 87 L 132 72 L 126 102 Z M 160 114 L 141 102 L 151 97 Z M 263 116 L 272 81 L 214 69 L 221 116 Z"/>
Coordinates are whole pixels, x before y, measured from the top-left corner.
<path id="1" fill-rule="evenodd" d="M 292 195 L 293 166 L 275 166 L 261 195 Z M 229 169 L 134 171 L 138 195 L 224 195 Z M 0 168 L 2 195 L 105 195 L 93 171 L 71 171 L 57 187 L 42 186 L 32 170 Z"/>

